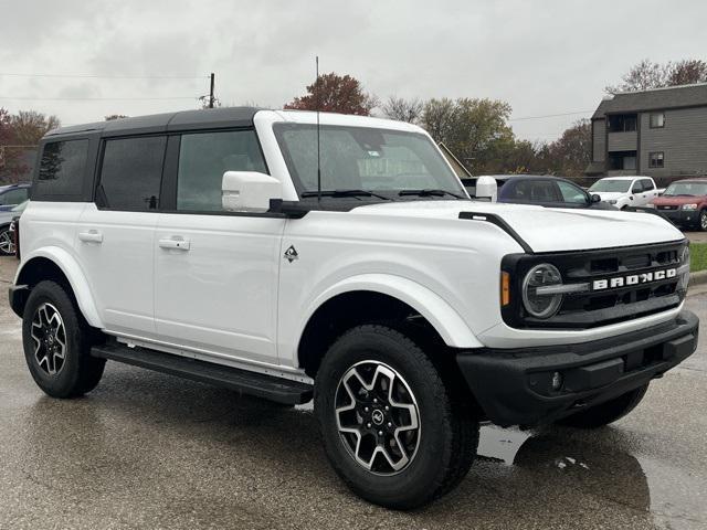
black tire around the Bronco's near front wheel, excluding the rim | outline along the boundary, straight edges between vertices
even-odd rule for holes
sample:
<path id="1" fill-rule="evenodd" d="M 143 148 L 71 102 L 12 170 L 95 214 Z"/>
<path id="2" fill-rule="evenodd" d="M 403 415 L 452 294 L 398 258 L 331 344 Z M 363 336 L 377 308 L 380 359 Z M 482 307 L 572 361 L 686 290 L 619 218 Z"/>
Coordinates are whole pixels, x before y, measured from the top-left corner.
<path id="1" fill-rule="evenodd" d="M 384 363 L 410 388 L 419 411 L 416 453 L 397 474 L 362 467 L 347 449 L 338 425 L 336 392 L 345 373 L 362 361 Z M 478 422 L 454 385 L 409 337 L 366 325 L 344 333 L 328 350 L 315 381 L 315 414 L 336 473 L 358 496 L 393 509 L 423 506 L 453 489 L 467 474 L 478 445 Z"/>

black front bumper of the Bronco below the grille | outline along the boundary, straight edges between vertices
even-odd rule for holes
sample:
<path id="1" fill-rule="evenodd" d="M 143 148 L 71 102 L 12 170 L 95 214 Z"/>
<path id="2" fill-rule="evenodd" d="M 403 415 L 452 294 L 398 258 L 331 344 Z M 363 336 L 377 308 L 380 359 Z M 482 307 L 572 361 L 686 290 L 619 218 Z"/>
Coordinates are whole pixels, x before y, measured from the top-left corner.
<path id="1" fill-rule="evenodd" d="M 548 423 L 659 378 L 697 348 L 699 320 L 544 348 L 461 351 L 456 362 L 486 417 L 500 426 Z M 552 388 L 561 380 L 561 386 Z"/>

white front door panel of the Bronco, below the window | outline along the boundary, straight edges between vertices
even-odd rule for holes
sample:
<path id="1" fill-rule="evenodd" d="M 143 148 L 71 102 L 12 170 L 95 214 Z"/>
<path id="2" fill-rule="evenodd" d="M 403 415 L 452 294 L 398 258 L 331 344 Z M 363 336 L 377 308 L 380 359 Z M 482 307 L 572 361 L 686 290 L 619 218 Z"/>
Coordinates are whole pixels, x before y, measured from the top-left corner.
<path id="1" fill-rule="evenodd" d="M 284 219 L 265 216 L 160 214 L 155 241 L 159 340 L 276 363 L 284 225 Z M 182 246 L 170 247 L 172 241 Z"/>

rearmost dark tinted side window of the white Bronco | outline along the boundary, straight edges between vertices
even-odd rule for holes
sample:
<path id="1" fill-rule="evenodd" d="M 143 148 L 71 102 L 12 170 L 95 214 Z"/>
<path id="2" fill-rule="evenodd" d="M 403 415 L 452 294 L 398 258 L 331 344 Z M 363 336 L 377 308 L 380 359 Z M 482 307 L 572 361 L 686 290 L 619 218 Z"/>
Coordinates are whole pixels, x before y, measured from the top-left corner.
<path id="1" fill-rule="evenodd" d="M 33 199 L 78 197 L 88 159 L 88 140 L 52 141 L 44 145 Z"/>

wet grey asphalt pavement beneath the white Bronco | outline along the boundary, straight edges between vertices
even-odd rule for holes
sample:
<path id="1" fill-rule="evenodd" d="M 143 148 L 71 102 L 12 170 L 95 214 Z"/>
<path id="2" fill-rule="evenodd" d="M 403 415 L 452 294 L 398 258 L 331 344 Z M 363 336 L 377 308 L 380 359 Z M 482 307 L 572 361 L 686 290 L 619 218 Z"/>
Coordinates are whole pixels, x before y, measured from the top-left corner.
<path id="1" fill-rule="evenodd" d="M 13 258 L 0 258 L 0 288 Z M 351 495 L 308 410 L 108 363 L 101 385 L 46 398 L 0 293 L 0 529 L 707 528 L 707 293 L 698 351 L 626 418 L 594 432 L 483 427 L 479 457 L 432 506 Z"/>

